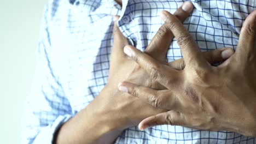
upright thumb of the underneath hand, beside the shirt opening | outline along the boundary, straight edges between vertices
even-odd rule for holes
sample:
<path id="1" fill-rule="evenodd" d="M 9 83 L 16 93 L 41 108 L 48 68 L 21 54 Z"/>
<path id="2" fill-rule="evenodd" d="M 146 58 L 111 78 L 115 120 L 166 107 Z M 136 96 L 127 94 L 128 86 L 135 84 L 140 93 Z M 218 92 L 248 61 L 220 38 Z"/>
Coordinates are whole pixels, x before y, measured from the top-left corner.
<path id="1" fill-rule="evenodd" d="M 125 53 L 123 51 L 123 48 L 125 45 L 128 45 L 127 39 L 124 37 L 123 33 L 120 31 L 118 27 L 118 19 L 119 16 L 114 16 L 114 26 L 113 26 L 113 49 L 112 49 L 112 54 L 115 56 L 123 56 L 125 57 Z"/>

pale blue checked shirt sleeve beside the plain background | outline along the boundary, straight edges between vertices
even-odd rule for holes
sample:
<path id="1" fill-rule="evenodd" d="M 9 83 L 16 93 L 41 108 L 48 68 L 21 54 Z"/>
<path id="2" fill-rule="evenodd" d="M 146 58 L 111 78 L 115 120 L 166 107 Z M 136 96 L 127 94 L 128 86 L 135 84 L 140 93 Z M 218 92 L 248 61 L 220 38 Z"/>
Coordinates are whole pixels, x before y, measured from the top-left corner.
<path id="1" fill-rule="evenodd" d="M 73 116 L 61 82 L 51 67 L 49 13 L 46 5 L 38 42 L 36 74 L 21 122 L 21 143 L 53 143 L 55 131 Z"/>

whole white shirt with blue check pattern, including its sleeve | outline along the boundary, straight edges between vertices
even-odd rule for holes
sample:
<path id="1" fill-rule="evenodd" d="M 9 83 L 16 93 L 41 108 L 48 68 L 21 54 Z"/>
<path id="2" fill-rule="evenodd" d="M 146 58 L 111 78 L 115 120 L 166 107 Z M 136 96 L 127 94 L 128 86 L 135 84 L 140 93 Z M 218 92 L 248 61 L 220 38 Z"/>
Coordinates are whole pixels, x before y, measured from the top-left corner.
<path id="1" fill-rule="evenodd" d="M 112 15 L 130 43 L 144 50 L 162 25 L 162 10 L 173 13 L 182 0 L 50 0 L 38 42 L 38 66 L 22 119 L 21 143 L 52 143 L 61 124 L 84 109 L 108 81 Z M 242 23 L 256 9 L 255 0 L 192 0 L 184 22 L 202 51 L 236 49 Z M 181 58 L 176 39 L 168 61 Z M 128 128 L 115 143 L 256 143 L 229 131 L 204 131 L 171 125 Z"/>

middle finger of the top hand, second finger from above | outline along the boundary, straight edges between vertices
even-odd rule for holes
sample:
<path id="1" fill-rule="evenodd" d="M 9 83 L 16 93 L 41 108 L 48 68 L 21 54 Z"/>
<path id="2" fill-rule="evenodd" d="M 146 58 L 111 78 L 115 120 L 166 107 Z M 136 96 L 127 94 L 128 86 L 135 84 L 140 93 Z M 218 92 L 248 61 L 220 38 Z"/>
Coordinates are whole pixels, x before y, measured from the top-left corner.
<path id="1" fill-rule="evenodd" d="M 158 81 L 162 86 L 170 88 L 176 80 L 181 80 L 179 71 L 172 69 L 168 65 L 161 64 L 146 53 L 143 53 L 135 47 L 128 45 L 124 47 L 126 55 L 130 56 L 144 70 L 147 71 L 153 80 Z"/>

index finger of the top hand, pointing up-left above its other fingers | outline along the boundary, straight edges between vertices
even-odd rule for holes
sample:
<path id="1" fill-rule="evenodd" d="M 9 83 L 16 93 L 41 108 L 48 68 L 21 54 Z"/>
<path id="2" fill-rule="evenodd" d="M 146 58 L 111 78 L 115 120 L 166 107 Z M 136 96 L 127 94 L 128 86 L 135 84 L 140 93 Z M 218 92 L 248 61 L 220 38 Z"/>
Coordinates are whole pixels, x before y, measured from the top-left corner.
<path id="1" fill-rule="evenodd" d="M 199 47 L 177 17 L 168 13 L 168 11 L 163 11 L 161 17 L 168 26 L 168 29 L 170 29 L 174 37 L 176 37 L 185 64 L 189 68 L 209 67 Z"/>

